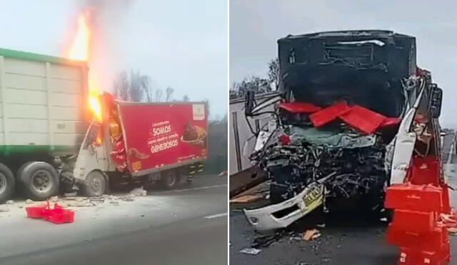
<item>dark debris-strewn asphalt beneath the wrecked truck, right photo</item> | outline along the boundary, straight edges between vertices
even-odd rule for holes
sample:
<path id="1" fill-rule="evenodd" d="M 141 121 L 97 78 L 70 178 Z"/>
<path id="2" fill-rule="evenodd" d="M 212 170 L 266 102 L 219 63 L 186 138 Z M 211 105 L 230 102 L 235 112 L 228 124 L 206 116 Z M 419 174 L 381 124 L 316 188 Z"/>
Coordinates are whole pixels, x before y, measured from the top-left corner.
<path id="1" fill-rule="evenodd" d="M 456 165 L 457 167 L 457 165 Z M 457 169 L 453 171 L 453 174 Z M 457 187 L 457 178 L 451 177 L 449 184 Z M 457 208 L 457 191 L 451 191 L 451 204 Z M 386 224 L 351 220 L 333 216 L 332 223 L 321 231 L 321 237 L 312 241 L 297 240 L 298 232 L 306 231 L 296 225 L 291 230 L 297 234 L 286 234 L 270 246 L 261 248 L 257 255 L 239 251 L 251 247 L 258 237 L 241 212 L 248 205 L 231 204 L 229 256 L 231 265 L 395 265 L 398 249 L 386 244 Z M 305 222 L 306 223 L 306 222 Z M 451 236 L 451 264 L 457 264 L 457 236 Z"/>

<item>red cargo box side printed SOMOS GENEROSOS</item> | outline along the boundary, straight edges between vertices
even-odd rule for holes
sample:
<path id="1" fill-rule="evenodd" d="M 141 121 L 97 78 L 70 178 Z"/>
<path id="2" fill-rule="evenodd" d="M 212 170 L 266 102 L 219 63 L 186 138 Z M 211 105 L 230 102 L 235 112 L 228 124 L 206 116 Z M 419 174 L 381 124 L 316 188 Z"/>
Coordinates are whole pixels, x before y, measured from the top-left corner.
<path id="1" fill-rule="evenodd" d="M 204 103 L 120 103 L 129 170 L 206 158 L 205 107 Z"/>

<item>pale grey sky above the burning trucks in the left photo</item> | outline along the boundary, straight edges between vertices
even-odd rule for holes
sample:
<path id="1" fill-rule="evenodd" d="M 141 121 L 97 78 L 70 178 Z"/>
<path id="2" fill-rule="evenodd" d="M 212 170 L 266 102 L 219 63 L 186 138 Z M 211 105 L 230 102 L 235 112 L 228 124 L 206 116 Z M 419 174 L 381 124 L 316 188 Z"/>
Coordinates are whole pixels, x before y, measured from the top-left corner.
<path id="1" fill-rule="evenodd" d="M 120 71 L 133 69 L 149 75 L 154 88 L 173 88 L 174 99 L 209 99 L 213 118 L 226 114 L 226 1 L 3 0 L 0 47 L 65 56 L 77 14 L 92 3 L 101 25 L 89 69 L 108 76 L 103 90 L 111 91 Z"/>

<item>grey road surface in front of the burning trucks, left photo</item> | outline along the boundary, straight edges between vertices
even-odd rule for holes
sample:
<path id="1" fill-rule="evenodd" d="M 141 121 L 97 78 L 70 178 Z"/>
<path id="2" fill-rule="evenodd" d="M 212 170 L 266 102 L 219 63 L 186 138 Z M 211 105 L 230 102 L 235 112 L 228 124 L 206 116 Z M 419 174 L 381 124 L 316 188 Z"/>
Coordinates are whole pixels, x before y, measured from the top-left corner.
<path id="1" fill-rule="evenodd" d="M 191 189 L 86 209 L 74 224 L 0 219 L 0 264 L 226 264 L 226 181 L 200 177 Z"/>

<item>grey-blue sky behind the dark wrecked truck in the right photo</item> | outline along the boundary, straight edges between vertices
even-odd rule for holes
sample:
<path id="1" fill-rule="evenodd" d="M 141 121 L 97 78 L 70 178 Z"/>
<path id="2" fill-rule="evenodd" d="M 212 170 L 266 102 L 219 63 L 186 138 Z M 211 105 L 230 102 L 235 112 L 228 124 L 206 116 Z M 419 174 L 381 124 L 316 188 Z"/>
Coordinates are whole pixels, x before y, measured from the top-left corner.
<path id="1" fill-rule="evenodd" d="M 457 129 L 457 1 L 231 0 L 229 19 L 230 84 L 266 76 L 276 41 L 288 34 L 387 29 L 416 36 L 418 66 L 443 89 L 441 124 Z"/>

